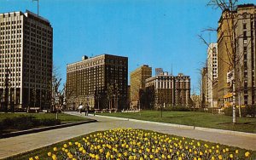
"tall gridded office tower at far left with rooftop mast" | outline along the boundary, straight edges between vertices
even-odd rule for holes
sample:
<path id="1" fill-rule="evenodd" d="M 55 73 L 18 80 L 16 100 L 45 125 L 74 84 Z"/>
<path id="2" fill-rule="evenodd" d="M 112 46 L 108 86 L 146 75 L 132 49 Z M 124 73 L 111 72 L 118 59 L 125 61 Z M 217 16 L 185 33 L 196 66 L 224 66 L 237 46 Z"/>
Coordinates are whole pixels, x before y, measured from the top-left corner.
<path id="1" fill-rule="evenodd" d="M 26 11 L 0 14 L 1 104 L 49 108 L 53 65 L 53 28 L 49 20 Z"/>

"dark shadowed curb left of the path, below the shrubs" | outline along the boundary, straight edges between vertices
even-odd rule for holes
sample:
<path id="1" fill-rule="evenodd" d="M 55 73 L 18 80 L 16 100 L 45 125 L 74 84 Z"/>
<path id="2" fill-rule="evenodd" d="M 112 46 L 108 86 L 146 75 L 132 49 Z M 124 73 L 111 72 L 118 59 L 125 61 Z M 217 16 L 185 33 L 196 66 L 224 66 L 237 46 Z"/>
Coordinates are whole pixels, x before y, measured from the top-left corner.
<path id="1" fill-rule="evenodd" d="M 60 124 L 60 125 L 55 125 L 55 126 L 49 126 L 49 127 L 43 127 L 43 128 L 38 128 L 38 129 L 27 129 L 27 130 L 20 130 L 17 132 L 10 132 L 6 134 L 0 134 L 0 139 L 3 138 L 9 138 L 9 137 L 14 137 L 18 135 L 23 135 L 23 134 L 33 134 L 33 133 L 38 133 L 50 129 L 61 129 L 61 128 L 66 128 L 66 127 L 71 127 L 79 124 L 84 124 L 84 123 L 96 123 L 97 121 L 94 119 L 88 120 L 88 121 L 82 121 L 78 123 L 66 123 L 66 124 Z"/>

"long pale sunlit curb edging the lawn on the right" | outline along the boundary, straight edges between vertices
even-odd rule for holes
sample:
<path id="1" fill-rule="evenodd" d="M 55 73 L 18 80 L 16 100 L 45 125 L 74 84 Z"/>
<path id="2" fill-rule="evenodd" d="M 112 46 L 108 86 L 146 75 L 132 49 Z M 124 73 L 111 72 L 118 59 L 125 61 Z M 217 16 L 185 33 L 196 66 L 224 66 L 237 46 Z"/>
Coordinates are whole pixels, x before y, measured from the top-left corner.
<path id="1" fill-rule="evenodd" d="M 108 116 L 101 116 L 101 115 L 95 115 L 95 116 L 97 116 L 97 117 L 108 117 Z M 137 120 L 137 119 L 131 119 L 131 118 L 124 118 L 124 117 L 109 117 L 109 118 L 132 121 L 132 122 L 139 122 L 139 123 L 153 123 L 153 124 L 170 126 L 170 127 L 180 128 L 180 129 L 195 129 L 195 130 L 218 133 L 218 134 L 231 134 L 231 135 L 238 135 L 238 136 L 256 138 L 256 134 L 247 133 L 247 132 L 233 131 L 233 130 L 209 129 L 209 128 L 202 128 L 202 127 L 196 127 L 196 126 L 187 126 L 187 125 L 173 124 L 173 123 L 158 123 L 158 122 L 143 121 L 143 120 Z"/>

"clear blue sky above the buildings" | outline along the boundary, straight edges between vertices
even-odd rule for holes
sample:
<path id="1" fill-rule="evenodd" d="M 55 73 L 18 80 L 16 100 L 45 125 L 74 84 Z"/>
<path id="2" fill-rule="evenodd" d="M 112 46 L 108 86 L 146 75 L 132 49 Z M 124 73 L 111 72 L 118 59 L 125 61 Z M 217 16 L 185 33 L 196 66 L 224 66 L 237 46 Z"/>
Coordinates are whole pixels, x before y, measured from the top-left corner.
<path id="1" fill-rule="evenodd" d="M 254 0 L 241 1 L 253 3 Z M 82 55 L 127 56 L 130 72 L 143 64 L 191 77 L 198 86 L 207 46 L 197 37 L 216 42 L 220 10 L 208 0 L 40 0 L 39 14 L 54 28 L 54 66 L 66 82 L 68 63 Z M 26 9 L 37 13 L 32 0 L 0 0 L 0 13 Z"/>

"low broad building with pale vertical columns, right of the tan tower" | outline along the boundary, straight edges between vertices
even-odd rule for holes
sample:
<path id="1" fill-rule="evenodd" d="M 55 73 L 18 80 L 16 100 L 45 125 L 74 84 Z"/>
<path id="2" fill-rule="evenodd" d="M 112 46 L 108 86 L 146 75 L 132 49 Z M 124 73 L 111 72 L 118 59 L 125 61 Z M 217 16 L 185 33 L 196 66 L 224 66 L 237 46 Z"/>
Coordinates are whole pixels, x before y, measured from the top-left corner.
<path id="1" fill-rule="evenodd" d="M 179 73 L 178 76 L 158 75 L 146 80 L 146 87 L 154 89 L 153 103 L 160 106 L 189 106 L 190 78 Z"/>

